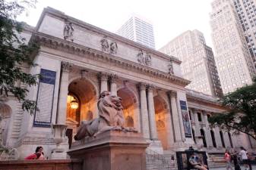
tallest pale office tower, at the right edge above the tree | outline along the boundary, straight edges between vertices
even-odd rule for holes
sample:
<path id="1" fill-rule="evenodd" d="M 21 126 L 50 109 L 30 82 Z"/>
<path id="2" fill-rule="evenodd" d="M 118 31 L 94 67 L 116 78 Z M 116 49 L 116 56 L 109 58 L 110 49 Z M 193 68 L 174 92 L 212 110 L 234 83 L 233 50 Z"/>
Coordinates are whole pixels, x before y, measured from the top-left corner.
<path id="1" fill-rule="evenodd" d="M 240 2 L 246 4 L 252 1 L 214 0 L 211 4 L 210 23 L 216 67 L 224 94 L 235 91 L 236 88 L 245 84 L 251 84 L 252 78 L 255 76 L 254 63 L 245 40 L 242 24 L 240 24 L 239 14 L 235 9 L 235 4 L 239 10 L 244 9 L 241 8 Z M 241 12 L 239 13 L 241 14 Z M 248 23 L 244 26 L 245 29 L 250 27 Z"/>

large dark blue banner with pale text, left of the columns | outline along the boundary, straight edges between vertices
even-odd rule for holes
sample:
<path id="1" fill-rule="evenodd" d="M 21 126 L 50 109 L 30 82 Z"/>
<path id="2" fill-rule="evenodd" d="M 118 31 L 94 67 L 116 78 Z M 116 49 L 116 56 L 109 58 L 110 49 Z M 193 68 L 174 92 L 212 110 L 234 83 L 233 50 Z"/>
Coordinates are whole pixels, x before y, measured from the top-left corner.
<path id="1" fill-rule="evenodd" d="M 49 127 L 52 122 L 52 105 L 54 97 L 56 72 L 41 69 L 40 83 L 37 91 L 36 110 L 33 125 Z"/>

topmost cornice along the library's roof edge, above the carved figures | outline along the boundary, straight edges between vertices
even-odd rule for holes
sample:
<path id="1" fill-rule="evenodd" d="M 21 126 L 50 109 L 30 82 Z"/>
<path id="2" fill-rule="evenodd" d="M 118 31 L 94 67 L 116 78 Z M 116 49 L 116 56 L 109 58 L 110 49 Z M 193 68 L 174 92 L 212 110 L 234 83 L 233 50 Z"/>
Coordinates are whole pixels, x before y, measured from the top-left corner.
<path id="1" fill-rule="evenodd" d="M 162 58 L 164 58 L 166 60 L 170 60 L 171 59 L 172 62 L 178 63 L 178 64 L 182 63 L 182 61 L 179 60 L 177 57 L 173 57 L 173 56 L 170 56 L 170 55 L 167 55 L 167 54 L 163 54 L 162 52 L 153 50 L 152 48 L 147 48 L 144 45 L 141 45 L 141 44 L 139 44 L 137 42 L 134 42 L 134 41 L 131 41 L 129 39 L 125 39 L 124 37 L 119 36 L 119 35 L 117 35 L 115 33 L 106 31 L 105 29 L 101 29 L 101 28 L 93 26 L 93 25 L 91 25 L 89 23 L 85 23 L 82 20 L 77 20 L 74 17 L 70 17 L 70 16 L 66 15 L 64 12 L 55 10 L 54 8 L 49 8 L 48 7 L 48 8 L 44 8 L 43 9 L 43 13 L 41 14 L 40 20 L 38 21 L 38 23 L 36 25 L 36 31 L 39 29 L 40 24 L 43 21 L 43 17 L 46 14 L 49 14 L 52 17 L 58 17 L 58 18 L 60 18 L 62 20 L 68 20 L 69 22 L 73 23 L 76 26 L 80 26 L 81 28 L 90 30 L 91 32 L 95 32 L 96 34 L 100 34 L 102 36 L 107 36 L 109 38 L 115 39 L 116 41 L 122 42 L 122 43 L 124 43 L 126 45 L 129 45 L 129 46 L 133 47 L 133 48 L 143 49 L 144 51 L 147 51 L 150 54 L 155 54 L 157 57 L 162 57 Z"/>

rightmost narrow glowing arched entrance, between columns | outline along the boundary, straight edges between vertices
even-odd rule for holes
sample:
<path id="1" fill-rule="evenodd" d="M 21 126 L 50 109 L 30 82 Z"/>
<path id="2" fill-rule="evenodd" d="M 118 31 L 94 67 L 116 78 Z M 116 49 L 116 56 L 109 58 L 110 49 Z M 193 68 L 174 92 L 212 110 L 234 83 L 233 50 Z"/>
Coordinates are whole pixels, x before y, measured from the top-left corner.
<path id="1" fill-rule="evenodd" d="M 162 97 L 156 96 L 153 97 L 153 104 L 155 107 L 156 114 L 156 129 L 159 140 L 162 143 L 163 149 L 168 149 L 167 142 L 167 104 Z"/>

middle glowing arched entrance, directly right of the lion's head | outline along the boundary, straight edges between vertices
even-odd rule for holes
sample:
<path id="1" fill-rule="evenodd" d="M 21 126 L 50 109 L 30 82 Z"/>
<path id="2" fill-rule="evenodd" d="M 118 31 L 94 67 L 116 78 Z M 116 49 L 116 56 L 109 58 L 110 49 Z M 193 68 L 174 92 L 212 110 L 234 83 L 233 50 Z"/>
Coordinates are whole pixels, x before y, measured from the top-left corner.
<path id="1" fill-rule="evenodd" d="M 124 116 L 125 116 L 125 127 L 134 127 L 136 125 L 136 116 L 137 116 L 137 100 L 134 93 L 128 88 L 120 88 L 117 91 L 117 95 L 122 98 L 122 107 Z"/>

